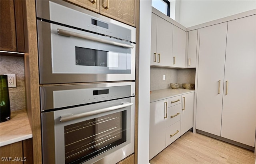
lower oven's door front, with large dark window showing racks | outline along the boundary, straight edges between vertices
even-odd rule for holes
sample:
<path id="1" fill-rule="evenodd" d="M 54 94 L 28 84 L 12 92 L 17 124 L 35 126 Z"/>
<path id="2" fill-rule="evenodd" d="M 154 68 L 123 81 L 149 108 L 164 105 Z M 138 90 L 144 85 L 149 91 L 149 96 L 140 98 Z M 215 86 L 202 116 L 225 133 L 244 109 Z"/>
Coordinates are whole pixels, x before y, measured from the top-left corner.
<path id="1" fill-rule="evenodd" d="M 109 156 L 112 152 L 125 150 L 126 147 L 130 149 L 128 152 L 119 153 L 132 154 L 134 110 L 131 108 L 134 108 L 134 105 L 93 115 L 88 114 L 95 110 L 100 111 L 102 108 L 115 108 L 125 104 L 124 102 L 129 104 L 131 98 L 54 111 L 55 162 L 90 164 Z M 76 117 L 81 114 L 86 116 Z M 66 118 L 67 120 L 64 120 Z"/>

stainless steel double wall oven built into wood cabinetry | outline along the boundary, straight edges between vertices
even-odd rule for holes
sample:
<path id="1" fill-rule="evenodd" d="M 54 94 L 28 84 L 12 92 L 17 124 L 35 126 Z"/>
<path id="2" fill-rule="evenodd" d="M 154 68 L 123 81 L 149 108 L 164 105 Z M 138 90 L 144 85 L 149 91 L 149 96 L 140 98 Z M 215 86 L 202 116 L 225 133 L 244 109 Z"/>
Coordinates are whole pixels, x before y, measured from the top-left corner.
<path id="1" fill-rule="evenodd" d="M 65 1 L 36 13 L 43 163 L 134 153 L 135 28 Z"/>

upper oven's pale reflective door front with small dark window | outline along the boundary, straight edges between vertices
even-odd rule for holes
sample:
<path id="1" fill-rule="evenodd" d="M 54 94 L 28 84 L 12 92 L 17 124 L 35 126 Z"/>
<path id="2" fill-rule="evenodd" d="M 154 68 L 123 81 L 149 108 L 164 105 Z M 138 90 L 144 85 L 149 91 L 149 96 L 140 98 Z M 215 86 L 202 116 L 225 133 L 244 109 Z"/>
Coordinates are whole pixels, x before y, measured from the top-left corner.
<path id="1" fill-rule="evenodd" d="M 52 31 L 64 28 L 85 36 L 131 44 L 72 28 L 51 24 Z M 51 33 L 53 74 L 131 74 L 132 50 L 94 40 Z"/>

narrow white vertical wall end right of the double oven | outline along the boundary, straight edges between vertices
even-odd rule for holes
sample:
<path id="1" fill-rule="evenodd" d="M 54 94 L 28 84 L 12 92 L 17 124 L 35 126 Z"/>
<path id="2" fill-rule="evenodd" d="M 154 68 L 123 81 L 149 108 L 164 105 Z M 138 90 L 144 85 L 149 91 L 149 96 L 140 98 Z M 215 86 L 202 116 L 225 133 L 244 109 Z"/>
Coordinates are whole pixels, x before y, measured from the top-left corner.
<path id="1" fill-rule="evenodd" d="M 149 162 L 151 0 L 140 0 L 138 164 Z"/>

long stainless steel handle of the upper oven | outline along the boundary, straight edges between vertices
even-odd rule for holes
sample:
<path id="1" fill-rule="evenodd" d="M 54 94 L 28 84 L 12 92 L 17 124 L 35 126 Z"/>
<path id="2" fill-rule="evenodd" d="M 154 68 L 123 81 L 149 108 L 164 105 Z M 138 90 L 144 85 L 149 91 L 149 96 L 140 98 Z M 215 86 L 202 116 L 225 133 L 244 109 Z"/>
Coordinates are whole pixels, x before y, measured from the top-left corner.
<path id="1" fill-rule="evenodd" d="M 100 39 L 100 38 L 96 38 L 94 36 L 79 34 L 79 33 L 76 33 L 76 32 L 62 30 L 62 29 L 59 29 L 59 28 L 57 29 L 57 32 L 58 32 L 58 35 L 62 35 L 62 36 L 68 36 L 68 37 L 74 36 L 74 37 L 77 37 L 77 38 L 88 39 L 88 40 L 101 42 L 101 43 L 106 43 L 106 44 L 111 44 L 111 45 L 119 46 L 119 47 L 123 47 L 123 48 L 134 48 L 134 46 L 129 45 L 129 44 L 118 43 L 118 42 L 114 42 L 114 41 L 110 41 L 110 40 Z"/>

